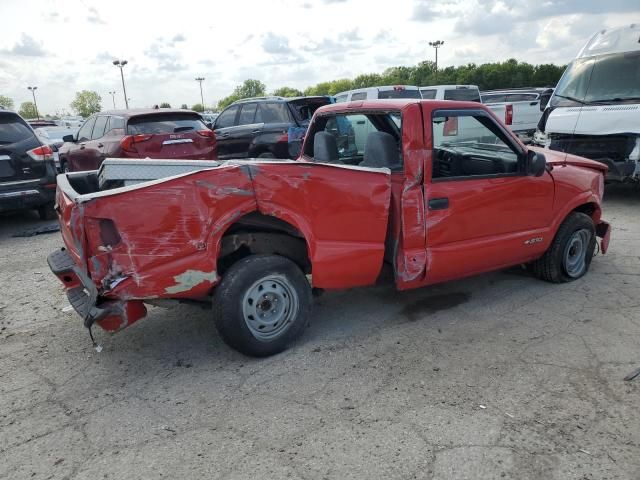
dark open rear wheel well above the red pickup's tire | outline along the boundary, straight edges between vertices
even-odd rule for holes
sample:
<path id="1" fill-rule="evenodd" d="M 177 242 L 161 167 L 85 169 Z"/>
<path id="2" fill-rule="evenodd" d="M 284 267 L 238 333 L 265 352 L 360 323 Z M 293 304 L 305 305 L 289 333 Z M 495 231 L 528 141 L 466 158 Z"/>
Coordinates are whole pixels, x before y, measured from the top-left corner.
<path id="1" fill-rule="evenodd" d="M 218 272 L 223 274 L 238 260 L 256 254 L 275 254 L 311 273 L 307 242 L 293 225 L 276 217 L 252 212 L 239 218 L 222 236 Z"/>

